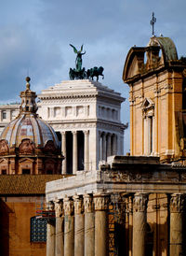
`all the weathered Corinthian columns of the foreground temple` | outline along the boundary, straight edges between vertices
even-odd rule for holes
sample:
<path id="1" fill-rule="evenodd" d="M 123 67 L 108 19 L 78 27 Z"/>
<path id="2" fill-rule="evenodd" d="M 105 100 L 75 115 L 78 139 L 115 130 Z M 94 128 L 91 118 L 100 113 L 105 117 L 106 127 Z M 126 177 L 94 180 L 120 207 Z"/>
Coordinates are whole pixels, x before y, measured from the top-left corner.
<path id="1" fill-rule="evenodd" d="M 105 193 L 74 195 L 52 203 L 56 211 L 56 225 L 48 221 L 46 255 L 109 255 L 108 216 L 112 205 L 110 196 Z M 126 202 L 125 196 L 127 195 L 122 196 Z M 144 192 L 130 194 L 127 196 L 127 202 L 128 224 L 132 226 L 132 229 L 127 234 L 129 240 L 127 252 L 125 254 L 123 251 L 123 253 L 124 255 L 145 256 L 147 255 L 145 245 L 148 194 Z M 173 193 L 170 195 L 168 206 L 169 243 L 167 245 L 169 256 L 185 255 L 183 249 L 184 204 L 184 194 Z M 125 213 L 120 210 L 120 214 Z M 126 244 L 126 238 L 123 237 L 123 239 L 123 244 Z"/>

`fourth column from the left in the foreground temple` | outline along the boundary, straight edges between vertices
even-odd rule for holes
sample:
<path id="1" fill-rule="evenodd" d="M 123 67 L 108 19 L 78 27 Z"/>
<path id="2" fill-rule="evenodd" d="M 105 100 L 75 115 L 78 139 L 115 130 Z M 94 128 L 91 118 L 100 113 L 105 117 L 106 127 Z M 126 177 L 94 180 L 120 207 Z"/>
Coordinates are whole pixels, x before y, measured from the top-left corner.
<path id="1" fill-rule="evenodd" d="M 83 198 L 73 196 L 74 202 L 74 256 L 84 256 L 84 208 Z"/>

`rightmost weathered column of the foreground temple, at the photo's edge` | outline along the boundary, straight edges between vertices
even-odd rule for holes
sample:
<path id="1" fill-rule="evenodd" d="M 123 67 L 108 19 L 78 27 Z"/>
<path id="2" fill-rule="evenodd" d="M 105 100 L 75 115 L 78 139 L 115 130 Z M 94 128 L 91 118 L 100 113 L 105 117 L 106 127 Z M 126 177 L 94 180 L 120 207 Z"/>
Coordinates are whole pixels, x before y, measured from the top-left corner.
<path id="1" fill-rule="evenodd" d="M 186 255 L 183 247 L 183 209 L 185 194 L 173 193 L 170 198 L 170 256 Z"/>

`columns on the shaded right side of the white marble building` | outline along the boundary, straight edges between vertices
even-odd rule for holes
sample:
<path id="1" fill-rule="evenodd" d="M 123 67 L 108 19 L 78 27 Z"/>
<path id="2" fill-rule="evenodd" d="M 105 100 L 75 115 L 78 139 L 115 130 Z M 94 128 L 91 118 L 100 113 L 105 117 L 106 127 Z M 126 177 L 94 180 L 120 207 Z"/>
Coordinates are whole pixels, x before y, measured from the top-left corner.
<path id="1" fill-rule="evenodd" d="M 99 133 L 100 160 L 107 161 L 107 157 L 117 154 L 117 135 L 101 132 Z"/>

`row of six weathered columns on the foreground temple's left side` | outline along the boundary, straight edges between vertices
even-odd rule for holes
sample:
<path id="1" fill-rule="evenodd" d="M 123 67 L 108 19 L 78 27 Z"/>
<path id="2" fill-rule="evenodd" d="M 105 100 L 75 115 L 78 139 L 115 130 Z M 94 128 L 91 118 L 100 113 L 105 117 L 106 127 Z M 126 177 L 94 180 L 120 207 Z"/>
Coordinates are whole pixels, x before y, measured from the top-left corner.
<path id="1" fill-rule="evenodd" d="M 74 195 L 56 201 L 56 225 L 52 221 L 47 224 L 46 255 L 107 255 L 108 202 L 105 194 Z"/>

